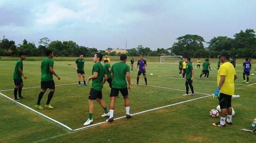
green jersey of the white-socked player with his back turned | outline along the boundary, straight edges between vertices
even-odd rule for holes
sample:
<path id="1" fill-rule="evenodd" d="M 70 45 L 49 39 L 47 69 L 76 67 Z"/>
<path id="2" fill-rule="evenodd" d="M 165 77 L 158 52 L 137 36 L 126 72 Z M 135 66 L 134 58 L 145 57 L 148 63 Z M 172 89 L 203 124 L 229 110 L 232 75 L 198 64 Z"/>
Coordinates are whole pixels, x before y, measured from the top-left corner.
<path id="1" fill-rule="evenodd" d="M 125 88 L 127 82 L 125 80 L 126 72 L 130 71 L 130 67 L 124 62 L 115 63 L 112 65 L 110 73 L 113 73 L 112 87 L 113 88 Z"/>

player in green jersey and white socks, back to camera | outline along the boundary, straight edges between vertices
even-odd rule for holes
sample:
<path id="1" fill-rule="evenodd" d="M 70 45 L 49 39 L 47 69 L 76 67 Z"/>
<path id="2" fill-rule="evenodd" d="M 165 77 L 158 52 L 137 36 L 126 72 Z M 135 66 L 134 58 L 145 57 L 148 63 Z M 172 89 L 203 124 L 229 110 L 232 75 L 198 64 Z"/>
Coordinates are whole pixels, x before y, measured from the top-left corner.
<path id="1" fill-rule="evenodd" d="M 130 111 L 130 102 L 128 98 L 128 89 L 127 89 L 127 82 L 125 80 L 125 76 L 127 78 L 127 81 L 129 83 L 129 91 L 132 90 L 131 86 L 131 78 L 130 78 L 130 68 L 127 64 L 125 64 L 127 61 L 127 56 L 124 54 L 121 54 L 120 56 L 120 62 L 115 63 L 112 65 L 111 68 L 111 78 L 112 80 L 112 89 L 110 92 L 110 103 L 109 103 L 109 112 L 110 116 L 109 119 L 106 120 L 106 122 L 112 122 L 114 120 L 114 104 L 116 101 L 116 96 L 118 96 L 119 91 L 124 97 L 124 106 L 126 110 L 126 118 L 131 118 L 132 115 L 129 113 Z"/>

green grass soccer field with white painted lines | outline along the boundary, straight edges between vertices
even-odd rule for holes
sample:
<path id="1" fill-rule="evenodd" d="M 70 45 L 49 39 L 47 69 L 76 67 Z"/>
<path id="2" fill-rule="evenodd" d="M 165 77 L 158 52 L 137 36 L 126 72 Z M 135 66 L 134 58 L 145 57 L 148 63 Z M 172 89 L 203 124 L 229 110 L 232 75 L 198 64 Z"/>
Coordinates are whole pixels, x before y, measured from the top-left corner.
<path id="1" fill-rule="evenodd" d="M 184 97 L 185 79 L 178 75 L 178 64 L 159 64 L 146 60 L 147 87 L 144 86 L 142 75 L 140 85 L 135 86 L 138 71 L 130 72 L 132 91 L 129 92 L 129 100 L 133 117 L 124 118 L 124 100 L 119 96 L 114 110 L 116 120 L 106 123 L 108 118 L 101 117 L 103 109 L 95 101 L 94 122 L 90 127 L 83 126 L 83 123 L 88 119 L 87 99 L 91 84 L 78 87 L 75 61 L 54 61 L 54 71 L 61 80 L 55 76 L 53 78 L 56 85 L 50 103 L 53 110 L 38 110 L 34 107 L 41 91 L 41 61 L 23 61 L 23 73 L 27 79 L 23 79 L 22 95 L 26 98 L 20 99 L 20 103 L 63 126 L 3 96 L 14 99 L 12 75 L 16 61 L 0 61 L 0 142 L 254 142 L 255 135 L 238 130 L 252 129 L 256 106 L 253 94 L 256 91 L 256 76 L 249 76 L 249 84 L 242 83 L 242 64 L 236 67 L 238 79 L 235 81 L 235 95 L 240 95 L 240 98 L 232 99 L 236 112 L 232 118 L 233 125 L 218 128 L 211 124 L 219 122 L 220 117 L 212 118 L 209 115 L 210 110 L 218 106 L 218 100 L 211 96 L 217 88 L 217 70 L 210 71 L 209 79 L 204 79 L 203 75 L 199 80 L 202 68 L 194 69 L 195 95 Z M 112 61 L 111 65 L 115 62 Z M 92 60 L 85 62 L 86 79 L 91 75 L 93 64 Z M 217 63 L 211 64 L 212 68 L 217 67 L 214 66 Z M 196 66 L 196 62 L 193 66 Z M 153 76 L 150 76 L 151 73 Z M 251 73 L 256 73 L 254 68 Z M 108 109 L 109 92 L 106 82 L 102 99 Z M 46 103 L 48 93 L 49 89 L 41 105 Z"/>

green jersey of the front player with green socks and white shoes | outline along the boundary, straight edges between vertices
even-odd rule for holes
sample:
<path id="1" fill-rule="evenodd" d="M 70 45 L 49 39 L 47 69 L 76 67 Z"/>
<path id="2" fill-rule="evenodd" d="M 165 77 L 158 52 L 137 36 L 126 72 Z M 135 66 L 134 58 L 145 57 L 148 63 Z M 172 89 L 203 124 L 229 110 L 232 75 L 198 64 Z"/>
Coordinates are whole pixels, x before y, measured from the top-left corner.
<path id="1" fill-rule="evenodd" d="M 104 75 L 106 74 L 106 71 L 103 67 L 103 65 L 101 65 L 100 62 L 97 62 L 93 65 L 93 70 L 92 70 L 92 74 L 94 72 L 98 72 L 98 76 L 97 78 L 93 79 L 93 83 L 91 84 L 91 88 L 95 89 L 95 90 L 98 90 L 98 91 L 101 91 L 102 88 L 103 88 L 103 78 L 104 78 Z"/>

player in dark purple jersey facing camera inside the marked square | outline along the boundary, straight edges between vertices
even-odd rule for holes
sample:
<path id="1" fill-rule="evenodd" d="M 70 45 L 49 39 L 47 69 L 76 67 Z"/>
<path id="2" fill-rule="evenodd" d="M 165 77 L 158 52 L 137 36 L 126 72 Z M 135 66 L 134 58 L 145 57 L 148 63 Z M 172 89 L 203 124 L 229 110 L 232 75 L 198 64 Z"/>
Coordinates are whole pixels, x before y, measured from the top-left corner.
<path id="1" fill-rule="evenodd" d="M 140 60 L 137 63 L 137 67 L 135 70 L 137 70 L 138 66 L 139 66 L 139 71 L 138 71 L 138 75 L 137 75 L 137 84 L 135 84 L 135 86 L 139 85 L 139 77 L 142 74 L 144 76 L 144 80 L 145 80 L 145 86 L 147 86 L 147 77 L 146 77 L 146 67 L 147 67 L 147 62 L 146 60 L 143 59 L 143 55 L 140 55 Z"/>

